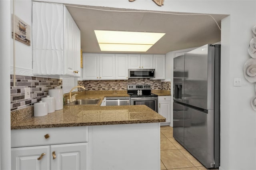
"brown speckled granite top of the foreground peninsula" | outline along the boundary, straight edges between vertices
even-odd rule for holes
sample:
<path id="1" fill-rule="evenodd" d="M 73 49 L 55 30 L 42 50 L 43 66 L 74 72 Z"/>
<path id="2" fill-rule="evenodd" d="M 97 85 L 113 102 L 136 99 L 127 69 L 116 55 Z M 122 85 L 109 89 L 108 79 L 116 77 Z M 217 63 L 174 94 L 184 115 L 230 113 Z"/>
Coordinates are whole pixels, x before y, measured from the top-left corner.
<path id="1" fill-rule="evenodd" d="M 64 106 L 43 117 L 30 117 L 11 124 L 11 129 L 158 123 L 166 119 L 146 105 L 133 106 Z"/>

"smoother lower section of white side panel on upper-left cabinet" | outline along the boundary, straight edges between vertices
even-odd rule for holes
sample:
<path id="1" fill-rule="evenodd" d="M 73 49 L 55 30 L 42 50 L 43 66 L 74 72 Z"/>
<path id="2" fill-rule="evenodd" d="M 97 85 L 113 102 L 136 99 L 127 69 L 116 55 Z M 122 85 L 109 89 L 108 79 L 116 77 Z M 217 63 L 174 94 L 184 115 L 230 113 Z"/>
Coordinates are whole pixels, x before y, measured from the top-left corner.
<path id="1" fill-rule="evenodd" d="M 34 49 L 33 74 L 63 74 L 63 51 Z"/>

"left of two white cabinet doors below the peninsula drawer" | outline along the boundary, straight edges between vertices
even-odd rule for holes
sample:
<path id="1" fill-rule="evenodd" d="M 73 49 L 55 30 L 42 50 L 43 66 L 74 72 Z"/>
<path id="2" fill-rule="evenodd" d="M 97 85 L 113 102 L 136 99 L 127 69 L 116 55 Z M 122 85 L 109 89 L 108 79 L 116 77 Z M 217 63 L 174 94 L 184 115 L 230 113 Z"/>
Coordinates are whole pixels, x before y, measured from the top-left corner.
<path id="1" fill-rule="evenodd" d="M 12 170 L 50 170 L 50 146 L 11 148 L 11 162 Z"/>

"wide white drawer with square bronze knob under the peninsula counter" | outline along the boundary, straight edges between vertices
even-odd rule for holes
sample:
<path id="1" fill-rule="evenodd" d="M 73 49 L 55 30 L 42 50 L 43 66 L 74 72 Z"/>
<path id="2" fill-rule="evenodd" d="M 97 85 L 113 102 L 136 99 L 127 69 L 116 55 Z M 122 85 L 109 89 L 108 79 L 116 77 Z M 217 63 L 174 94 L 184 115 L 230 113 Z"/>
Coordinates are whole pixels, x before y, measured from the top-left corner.
<path id="1" fill-rule="evenodd" d="M 45 135 L 48 134 L 45 137 Z M 11 147 L 88 142 L 88 127 L 11 130 Z"/>

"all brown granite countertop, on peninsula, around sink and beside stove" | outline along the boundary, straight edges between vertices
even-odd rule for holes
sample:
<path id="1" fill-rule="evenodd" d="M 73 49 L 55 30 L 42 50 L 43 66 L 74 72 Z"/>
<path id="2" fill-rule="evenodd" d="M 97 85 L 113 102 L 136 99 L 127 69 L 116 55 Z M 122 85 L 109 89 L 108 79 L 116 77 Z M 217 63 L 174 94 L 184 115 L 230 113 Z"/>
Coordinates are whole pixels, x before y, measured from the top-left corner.
<path id="1" fill-rule="evenodd" d="M 126 93 L 125 93 L 126 92 Z M 158 95 L 170 95 L 157 91 Z M 156 93 L 154 93 L 156 94 Z M 66 96 L 66 95 L 65 95 Z M 24 111 L 11 112 L 11 129 L 159 123 L 166 119 L 146 105 L 100 106 L 104 97 L 129 97 L 127 91 L 83 91 L 76 99 L 100 99 L 98 105 L 64 105 L 62 110 L 43 117 L 33 117 L 33 106 Z M 67 98 L 69 98 L 67 96 Z"/>

